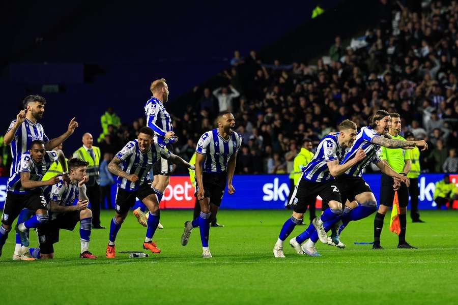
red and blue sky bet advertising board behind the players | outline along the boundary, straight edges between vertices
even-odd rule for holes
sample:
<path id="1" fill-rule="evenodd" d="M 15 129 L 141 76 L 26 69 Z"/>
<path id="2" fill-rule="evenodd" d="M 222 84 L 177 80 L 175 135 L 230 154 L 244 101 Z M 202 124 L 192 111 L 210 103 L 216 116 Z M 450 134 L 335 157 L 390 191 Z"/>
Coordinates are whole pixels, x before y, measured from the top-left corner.
<path id="1" fill-rule="evenodd" d="M 422 174 L 418 179 L 420 189 L 419 209 L 435 209 L 433 201 L 434 184 L 443 179 L 444 174 Z M 377 201 L 380 195 L 380 174 L 367 174 L 364 179 L 374 192 Z M 458 184 L 458 175 L 450 175 L 450 180 Z M 0 178 L 0 208 L 6 200 L 7 178 Z M 235 175 L 234 195 L 224 194 L 221 208 L 226 209 L 281 209 L 290 193 L 288 175 Z M 112 205 L 115 204 L 116 185 L 111 188 Z M 164 192 L 161 208 L 193 208 L 194 187 L 188 176 L 172 176 Z M 138 199 L 137 199 L 138 204 Z M 320 198 L 317 199 L 320 207 Z"/>

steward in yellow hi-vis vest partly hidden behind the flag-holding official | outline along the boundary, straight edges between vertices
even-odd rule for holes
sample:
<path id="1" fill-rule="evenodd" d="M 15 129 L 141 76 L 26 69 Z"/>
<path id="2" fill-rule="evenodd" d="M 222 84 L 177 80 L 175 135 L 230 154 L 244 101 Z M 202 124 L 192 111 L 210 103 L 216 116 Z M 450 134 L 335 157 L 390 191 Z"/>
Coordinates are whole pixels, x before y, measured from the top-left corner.
<path id="1" fill-rule="evenodd" d="M 415 141 L 413 133 L 410 131 L 404 134 L 407 141 Z M 422 223 L 420 219 L 420 213 L 418 212 L 418 196 L 420 195 L 420 189 L 418 188 L 418 176 L 420 175 L 420 149 L 414 147 L 410 150 L 410 171 L 407 177 L 410 179 L 409 195 L 410 195 L 410 218 L 412 222 Z"/>

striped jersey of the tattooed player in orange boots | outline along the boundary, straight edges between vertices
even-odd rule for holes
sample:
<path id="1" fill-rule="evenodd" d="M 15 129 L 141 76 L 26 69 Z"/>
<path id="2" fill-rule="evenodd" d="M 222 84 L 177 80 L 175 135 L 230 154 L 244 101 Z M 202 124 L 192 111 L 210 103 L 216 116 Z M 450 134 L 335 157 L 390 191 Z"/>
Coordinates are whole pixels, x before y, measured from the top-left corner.
<path id="1" fill-rule="evenodd" d="M 168 159 L 170 156 L 170 151 L 159 146 L 156 142 L 151 145 L 146 153 L 142 153 L 138 147 L 138 140 L 130 141 L 116 154 L 116 157 L 123 161 L 120 165 L 121 169 L 129 175 L 137 175 L 138 180 L 134 183 L 123 177 L 118 177 L 118 186 L 129 192 L 137 190 L 142 184 L 150 180 L 149 172 L 154 163 L 161 157 Z"/>

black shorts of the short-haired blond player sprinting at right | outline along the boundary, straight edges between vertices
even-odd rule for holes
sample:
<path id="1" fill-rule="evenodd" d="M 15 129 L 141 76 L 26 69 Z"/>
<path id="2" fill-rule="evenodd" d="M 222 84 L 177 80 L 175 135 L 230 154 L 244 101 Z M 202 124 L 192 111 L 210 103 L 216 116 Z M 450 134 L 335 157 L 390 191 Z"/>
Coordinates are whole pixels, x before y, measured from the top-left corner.
<path id="1" fill-rule="evenodd" d="M 335 180 L 328 182 L 311 182 L 304 178 L 299 180 L 291 196 L 290 204 L 296 213 L 305 213 L 307 206 L 317 200 L 317 196 L 322 198 L 322 209 L 329 206 L 329 201 L 341 202 L 339 189 Z"/>

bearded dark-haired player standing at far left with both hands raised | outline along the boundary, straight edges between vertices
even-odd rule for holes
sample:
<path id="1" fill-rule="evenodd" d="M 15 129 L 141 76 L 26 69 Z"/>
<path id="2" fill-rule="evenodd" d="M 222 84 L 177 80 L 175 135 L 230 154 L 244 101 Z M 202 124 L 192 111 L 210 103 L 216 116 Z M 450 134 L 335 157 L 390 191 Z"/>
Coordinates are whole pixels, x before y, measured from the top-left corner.
<path id="1" fill-rule="evenodd" d="M 12 163 L 10 176 L 13 176 L 19 164 L 19 159 L 26 150 L 31 148 L 31 143 L 34 140 L 42 140 L 45 143 L 45 149 L 51 150 L 59 146 L 68 137 L 70 137 L 78 127 L 75 118 L 70 120 L 67 131 L 61 136 L 49 140 L 44 133 L 43 126 L 37 121 L 43 117 L 46 99 L 39 95 L 30 95 L 24 98 L 24 110 L 19 111 L 16 119 L 13 120 L 4 136 L 4 143 L 11 144 Z M 67 179 L 67 178 L 65 178 Z M 29 216 L 29 211 L 21 211 L 18 221 L 23 222 Z M 16 248 L 13 258 L 27 258 L 28 249 L 20 243 L 20 236 L 16 233 Z"/>

